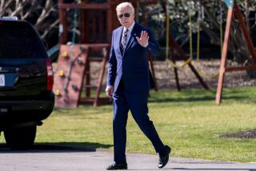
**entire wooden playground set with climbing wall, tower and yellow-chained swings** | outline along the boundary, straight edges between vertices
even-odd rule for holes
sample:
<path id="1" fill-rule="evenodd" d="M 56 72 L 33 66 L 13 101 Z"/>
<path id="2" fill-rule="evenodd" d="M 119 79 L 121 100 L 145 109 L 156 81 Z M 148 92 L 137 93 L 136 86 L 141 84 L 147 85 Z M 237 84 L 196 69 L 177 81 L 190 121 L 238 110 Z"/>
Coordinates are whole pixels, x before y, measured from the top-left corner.
<path id="1" fill-rule="evenodd" d="M 54 75 L 54 93 L 56 95 L 55 106 L 57 108 L 76 108 L 78 104 L 92 103 L 94 106 L 106 103 L 109 101 L 106 97 L 100 97 L 102 89 L 103 76 L 106 70 L 106 62 L 108 60 L 108 54 L 110 50 L 110 34 L 114 28 L 119 26 L 118 20 L 115 16 L 115 7 L 122 1 L 110 1 L 106 0 L 104 3 L 95 3 L 85 1 L 77 1 L 72 3 L 66 3 L 64 0 L 58 0 L 58 14 L 59 14 L 59 55 L 57 69 Z M 139 6 L 146 6 L 150 4 L 157 4 L 158 1 L 131 1 L 134 4 L 135 10 L 138 10 Z M 225 72 L 232 72 L 236 70 L 256 70 L 256 53 L 254 46 L 250 39 L 249 32 L 246 30 L 245 23 L 242 19 L 239 6 L 235 0 L 224 0 L 228 7 L 228 14 L 226 20 L 226 33 L 222 48 L 222 59 L 220 70 L 218 74 L 218 89 L 216 93 L 216 103 L 221 102 L 222 87 Z M 192 29 L 190 26 L 190 56 L 186 55 L 186 52 L 182 50 L 182 47 L 178 45 L 178 42 L 170 35 L 170 12 L 169 4 L 166 1 L 165 6 L 162 6 L 166 12 L 166 59 L 170 63 L 170 66 L 174 67 L 175 80 L 178 90 L 180 85 L 178 82 L 178 68 L 188 65 L 190 70 L 194 73 L 198 81 L 202 84 L 204 89 L 209 89 L 202 78 L 202 74 L 194 68 L 191 61 L 193 59 L 192 50 Z M 72 29 L 72 42 L 68 42 L 68 24 L 67 24 L 67 11 L 74 10 L 74 20 Z M 242 67 L 226 67 L 226 56 L 228 50 L 230 27 L 234 12 L 237 14 L 238 21 L 242 27 L 243 34 L 246 38 L 247 45 L 250 50 L 254 64 L 252 66 Z M 202 14 L 198 14 L 202 15 Z M 199 18 L 199 17 L 198 17 Z M 200 21 L 198 19 L 198 46 L 197 46 L 197 59 L 199 60 L 199 40 L 200 40 Z M 191 23 L 191 16 L 190 16 Z M 75 38 L 76 29 L 79 28 L 79 38 Z M 222 30 L 222 26 L 221 29 Z M 222 32 L 220 33 L 222 37 Z M 78 39 L 79 42 L 76 42 Z M 222 38 L 221 38 L 222 39 Z M 184 65 L 177 66 L 175 64 L 178 58 L 170 58 L 169 50 L 177 50 L 179 59 L 184 61 Z M 95 57 L 94 52 L 101 57 Z M 154 77 L 154 67 L 152 58 L 149 57 L 150 69 Z M 100 62 L 102 67 L 98 77 L 97 85 L 90 84 L 90 62 Z M 85 80 L 85 84 L 83 83 Z M 154 79 L 155 80 L 155 79 Z M 157 90 L 157 84 L 155 87 Z M 86 89 L 85 97 L 81 97 L 82 88 Z M 91 97 L 91 88 L 96 88 L 96 94 Z"/>

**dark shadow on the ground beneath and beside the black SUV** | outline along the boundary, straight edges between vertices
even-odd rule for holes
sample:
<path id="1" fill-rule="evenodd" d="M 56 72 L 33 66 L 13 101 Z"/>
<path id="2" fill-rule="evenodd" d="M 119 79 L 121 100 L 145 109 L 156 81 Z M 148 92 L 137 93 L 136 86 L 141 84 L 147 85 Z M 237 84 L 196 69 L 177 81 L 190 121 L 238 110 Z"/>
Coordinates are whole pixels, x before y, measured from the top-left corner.
<path id="1" fill-rule="evenodd" d="M 78 153 L 109 149 L 112 146 L 94 142 L 47 142 L 35 143 L 31 149 L 11 150 L 6 144 L 0 144 L 0 153 Z"/>

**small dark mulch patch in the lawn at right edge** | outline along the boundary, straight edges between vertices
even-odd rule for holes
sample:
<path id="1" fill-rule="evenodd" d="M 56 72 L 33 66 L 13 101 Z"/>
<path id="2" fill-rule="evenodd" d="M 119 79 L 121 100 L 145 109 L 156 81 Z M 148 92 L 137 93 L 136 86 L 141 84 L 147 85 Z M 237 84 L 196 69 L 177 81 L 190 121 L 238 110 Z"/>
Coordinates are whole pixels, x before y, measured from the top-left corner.
<path id="1" fill-rule="evenodd" d="M 246 130 L 240 133 L 226 133 L 222 134 L 219 137 L 221 138 L 242 138 L 242 139 L 248 139 L 248 138 L 256 138 L 256 129 L 252 130 Z"/>

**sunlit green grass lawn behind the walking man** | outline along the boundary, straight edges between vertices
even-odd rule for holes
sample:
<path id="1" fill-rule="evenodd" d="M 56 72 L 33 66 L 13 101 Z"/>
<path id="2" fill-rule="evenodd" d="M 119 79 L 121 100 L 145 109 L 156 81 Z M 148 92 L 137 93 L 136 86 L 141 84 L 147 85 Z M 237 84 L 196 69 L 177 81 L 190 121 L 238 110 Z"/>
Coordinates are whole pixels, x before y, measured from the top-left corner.
<path id="1" fill-rule="evenodd" d="M 203 89 L 150 92 L 150 119 L 172 156 L 217 161 L 256 161 L 256 139 L 223 139 L 222 133 L 256 129 L 256 87 L 224 89 L 221 105 Z M 3 142 L 3 136 L 1 142 Z M 38 143 L 113 149 L 112 105 L 55 109 L 38 127 Z M 150 141 L 129 115 L 127 152 L 154 153 Z"/>

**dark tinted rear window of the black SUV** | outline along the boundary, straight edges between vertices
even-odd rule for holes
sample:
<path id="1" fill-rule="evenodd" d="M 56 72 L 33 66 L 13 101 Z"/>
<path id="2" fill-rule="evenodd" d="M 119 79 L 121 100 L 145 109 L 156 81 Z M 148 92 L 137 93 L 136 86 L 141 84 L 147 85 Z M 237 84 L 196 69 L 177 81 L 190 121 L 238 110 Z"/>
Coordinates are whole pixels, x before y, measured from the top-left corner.
<path id="1" fill-rule="evenodd" d="M 26 22 L 0 22 L 0 58 L 46 58 L 38 34 Z"/>

